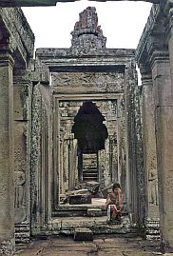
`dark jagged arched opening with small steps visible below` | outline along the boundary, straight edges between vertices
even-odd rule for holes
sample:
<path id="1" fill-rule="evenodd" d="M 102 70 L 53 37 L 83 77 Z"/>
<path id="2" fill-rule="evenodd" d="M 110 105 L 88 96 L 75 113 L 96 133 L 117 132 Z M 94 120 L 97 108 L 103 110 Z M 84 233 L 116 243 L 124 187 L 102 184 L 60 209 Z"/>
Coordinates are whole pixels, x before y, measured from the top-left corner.
<path id="1" fill-rule="evenodd" d="M 105 117 L 96 104 L 86 101 L 74 117 L 72 133 L 77 139 L 78 182 L 99 182 L 98 151 L 105 149 L 108 133 Z"/>

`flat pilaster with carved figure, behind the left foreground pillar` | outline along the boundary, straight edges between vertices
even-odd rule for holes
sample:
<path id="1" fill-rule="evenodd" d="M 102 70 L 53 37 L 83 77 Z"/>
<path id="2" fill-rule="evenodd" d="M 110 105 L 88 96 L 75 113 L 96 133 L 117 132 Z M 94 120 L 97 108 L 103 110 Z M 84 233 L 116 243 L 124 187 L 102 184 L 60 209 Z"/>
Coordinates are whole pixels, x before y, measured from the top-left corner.
<path id="1" fill-rule="evenodd" d="M 29 90 L 24 70 L 14 75 L 14 217 L 15 241 L 29 243 L 30 238 L 30 169 L 29 169 Z M 21 239 L 22 237 L 22 239 Z"/>

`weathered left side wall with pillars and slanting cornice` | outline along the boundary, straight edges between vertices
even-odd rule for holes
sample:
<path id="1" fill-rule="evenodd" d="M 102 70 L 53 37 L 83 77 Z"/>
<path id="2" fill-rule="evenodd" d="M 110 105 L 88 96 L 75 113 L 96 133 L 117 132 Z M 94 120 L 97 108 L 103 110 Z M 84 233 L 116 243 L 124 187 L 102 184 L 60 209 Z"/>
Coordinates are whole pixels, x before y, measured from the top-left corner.
<path id="1" fill-rule="evenodd" d="M 24 26 L 25 24 L 25 26 Z M 1 61 L 1 218 L 0 254 L 12 255 L 16 241 L 29 241 L 29 168 L 27 154 L 26 87 L 14 81 L 17 69 L 29 68 L 34 35 L 20 9 L 0 9 Z M 13 89 L 14 81 L 14 89 Z M 14 94 L 13 94 L 14 91 Z M 14 104 L 13 104 L 14 103 Z M 3 129 L 4 128 L 4 129 Z M 6 136 L 5 136 L 6 134 Z M 6 148 L 6 149 L 5 149 Z M 3 174 L 5 172 L 5 175 Z M 5 191 L 6 196 L 3 196 Z M 3 203 L 6 200 L 6 203 Z M 15 208 L 14 208 L 15 207 Z M 23 223 L 23 226 L 21 224 Z"/>

